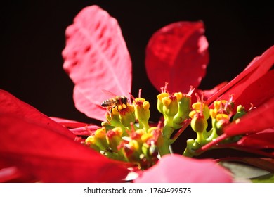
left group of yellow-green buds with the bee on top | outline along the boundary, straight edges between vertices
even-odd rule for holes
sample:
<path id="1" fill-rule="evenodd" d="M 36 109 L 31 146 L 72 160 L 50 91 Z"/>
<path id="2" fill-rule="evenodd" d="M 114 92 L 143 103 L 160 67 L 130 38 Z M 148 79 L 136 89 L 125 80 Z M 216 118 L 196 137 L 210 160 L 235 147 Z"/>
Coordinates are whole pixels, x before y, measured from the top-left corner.
<path id="1" fill-rule="evenodd" d="M 141 95 L 141 90 L 140 90 Z M 130 162 L 140 169 L 154 165 L 158 158 L 157 146 L 161 143 L 162 124 L 150 127 L 150 103 L 144 98 L 122 102 L 111 98 L 102 127 L 91 133 L 85 142 L 108 158 Z M 115 100 L 116 99 L 116 100 Z"/>

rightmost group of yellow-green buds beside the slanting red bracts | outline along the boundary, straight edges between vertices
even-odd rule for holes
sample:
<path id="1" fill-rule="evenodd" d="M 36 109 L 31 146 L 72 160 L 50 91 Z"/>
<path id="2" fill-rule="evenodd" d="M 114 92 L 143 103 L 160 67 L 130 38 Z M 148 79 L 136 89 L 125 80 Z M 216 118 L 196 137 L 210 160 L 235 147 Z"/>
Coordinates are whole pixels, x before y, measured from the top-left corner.
<path id="1" fill-rule="evenodd" d="M 200 99 L 197 96 L 197 102 L 192 105 L 193 110 L 189 113 L 191 118 L 190 125 L 194 132 L 197 134 L 197 138 L 188 139 L 187 147 L 183 155 L 193 157 L 199 155 L 201 152 L 197 151 L 205 144 L 214 141 L 218 136 L 223 134 L 223 128 L 230 125 L 231 122 L 240 122 L 240 117 L 247 114 L 249 110 L 245 110 L 242 105 L 237 106 L 235 111 L 235 101 L 233 101 L 233 95 L 230 95 L 228 101 L 214 101 L 213 108 L 209 109 L 209 106 L 203 98 Z M 209 126 L 209 118 L 211 118 L 211 129 L 207 131 Z M 233 138 L 226 139 L 225 143 L 231 143 L 237 141 L 241 136 L 235 136 Z"/>

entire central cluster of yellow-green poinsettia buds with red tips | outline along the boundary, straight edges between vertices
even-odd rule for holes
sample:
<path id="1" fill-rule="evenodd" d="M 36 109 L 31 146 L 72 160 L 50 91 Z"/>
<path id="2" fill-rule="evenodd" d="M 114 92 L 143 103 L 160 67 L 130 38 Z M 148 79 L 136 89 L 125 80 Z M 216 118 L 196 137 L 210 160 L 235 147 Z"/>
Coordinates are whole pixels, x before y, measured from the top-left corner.
<path id="1" fill-rule="evenodd" d="M 159 121 L 157 127 L 150 127 L 150 103 L 141 98 L 140 89 L 138 98 L 131 96 L 132 103 L 124 96 L 110 99 L 118 100 L 112 101 L 113 104 L 107 107 L 107 121 L 102 122 L 100 129 L 92 132 L 86 139 L 86 144 L 108 158 L 132 163 L 139 169 L 147 169 L 157 163 L 158 154 L 163 156 L 170 153 L 169 146 L 183 132 L 183 126 L 190 124 L 197 134 L 196 139 L 187 140 L 183 152 L 184 156 L 193 157 L 201 154 L 202 146 L 221 136 L 224 127 L 231 122 L 240 122 L 240 117 L 252 109 L 246 110 L 238 105 L 235 110 L 232 94 L 228 100 L 214 101 L 209 108 L 204 101 L 203 92 L 201 97 L 195 93 L 197 101 L 193 102 L 195 88 L 190 87 L 188 94 L 169 93 L 167 86 L 168 83 L 157 95 L 157 110 L 163 115 L 163 124 Z M 126 102 L 121 101 L 124 98 Z M 211 129 L 208 131 L 210 118 Z M 175 138 L 171 137 L 174 132 L 177 132 Z M 238 141 L 241 137 L 227 138 L 224 143 Z"/>

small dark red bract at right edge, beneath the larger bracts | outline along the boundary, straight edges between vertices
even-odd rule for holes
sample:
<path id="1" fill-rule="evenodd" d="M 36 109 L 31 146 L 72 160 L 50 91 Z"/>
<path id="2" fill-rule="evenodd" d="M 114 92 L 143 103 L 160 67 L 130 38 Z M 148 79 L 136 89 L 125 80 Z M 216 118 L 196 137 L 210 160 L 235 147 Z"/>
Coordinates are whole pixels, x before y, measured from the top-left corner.
<path id="1" fill-rule="evenodd" d="M 274 148 L 274 129 L 243 136 L 237 145 L 255 149 Z"/>

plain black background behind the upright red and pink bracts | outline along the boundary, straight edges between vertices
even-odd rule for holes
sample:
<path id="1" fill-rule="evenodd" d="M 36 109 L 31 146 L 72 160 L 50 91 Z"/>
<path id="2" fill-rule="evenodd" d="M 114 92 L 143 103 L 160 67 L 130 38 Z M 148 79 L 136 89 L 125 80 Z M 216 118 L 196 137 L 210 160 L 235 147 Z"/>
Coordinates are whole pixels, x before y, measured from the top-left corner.
<path id="1" fill-rule="evenodd" d="M 132 94 L 143 89 L 154 121 L 157 90 L 146 77 L 144 61 L 145 46 L 159 28 L 179 20 L 204 21 L 210 61 L 201 89 L 232 80 L 274 44 L 273 7 L 263 1 L 12 1 L 0 8 L 0 88 L 48 116 L 96 122 L 74 108 L 74 85 L 61 56 L 65 28 L 93 4 L 117 18 L 133 63 Z"/>

